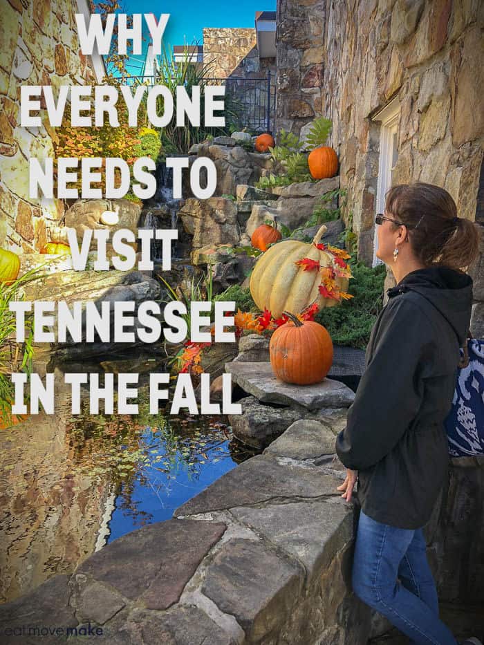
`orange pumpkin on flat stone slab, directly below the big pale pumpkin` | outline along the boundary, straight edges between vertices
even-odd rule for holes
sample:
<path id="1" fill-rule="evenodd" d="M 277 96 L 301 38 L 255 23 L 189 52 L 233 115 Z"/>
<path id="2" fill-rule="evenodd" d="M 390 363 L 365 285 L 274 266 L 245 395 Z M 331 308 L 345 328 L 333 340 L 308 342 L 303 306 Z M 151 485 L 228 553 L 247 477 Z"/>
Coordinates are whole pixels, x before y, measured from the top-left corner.
<path id="1" fill-rule="evenodd" d="M 325 327 L 301 321 L 283 312 L 288 322 L 278 327 L 269 342 L 274 375 L 284 383 L 310 385 L 324 380 L 333 364 L 333 342 Z"/>

